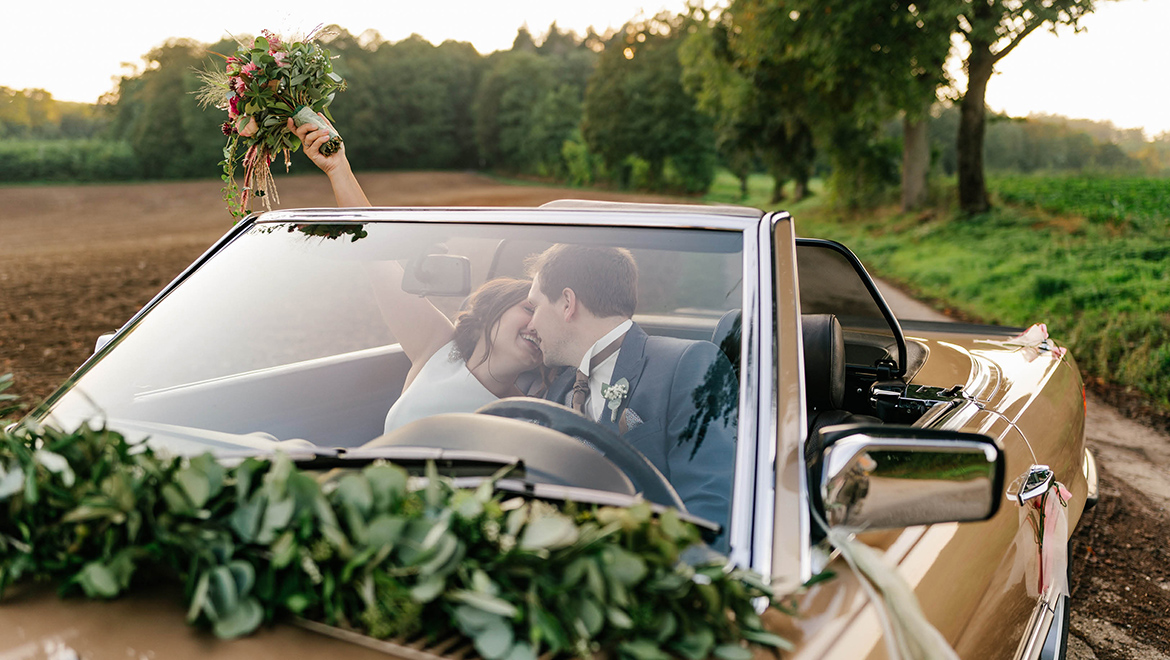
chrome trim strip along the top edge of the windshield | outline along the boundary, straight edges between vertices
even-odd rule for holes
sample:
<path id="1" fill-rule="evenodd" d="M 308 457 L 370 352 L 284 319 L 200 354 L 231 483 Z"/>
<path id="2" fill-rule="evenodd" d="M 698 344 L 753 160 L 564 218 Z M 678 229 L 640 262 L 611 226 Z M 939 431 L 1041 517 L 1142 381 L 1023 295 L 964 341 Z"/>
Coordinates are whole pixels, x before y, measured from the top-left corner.
<path id="1" fill-rule="evenodd" d="M 532 207 L 459 207 L 459 208 L 295 208 L 269 211 L 256 224 L 269 222 L 459 222 L 488 225 L 577 225 L 596 227 L 675 227 L 689 229 L 750 231 L 759 225 L 759 215 L 720 213 L 717 206 L 701 206 L 703 212 L 675 208 L 649 208 L 641 212 L 614 209 Z M 742 207 L 741 207 L 742 208 Z"/>

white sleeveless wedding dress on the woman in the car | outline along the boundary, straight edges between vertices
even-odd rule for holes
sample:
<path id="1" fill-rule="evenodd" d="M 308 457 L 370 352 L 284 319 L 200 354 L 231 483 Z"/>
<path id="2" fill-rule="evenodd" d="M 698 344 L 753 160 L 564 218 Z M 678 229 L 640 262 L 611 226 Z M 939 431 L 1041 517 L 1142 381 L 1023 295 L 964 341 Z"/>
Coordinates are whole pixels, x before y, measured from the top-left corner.
<path id="1" fill-rule="evenodd" d="M 455 342 L 435 351 L 422 371 L 386 413 L 384 433 L 447 412 L 475 412 L 498 400 L 467 369 L 461 357 L 452 358 Z"/>

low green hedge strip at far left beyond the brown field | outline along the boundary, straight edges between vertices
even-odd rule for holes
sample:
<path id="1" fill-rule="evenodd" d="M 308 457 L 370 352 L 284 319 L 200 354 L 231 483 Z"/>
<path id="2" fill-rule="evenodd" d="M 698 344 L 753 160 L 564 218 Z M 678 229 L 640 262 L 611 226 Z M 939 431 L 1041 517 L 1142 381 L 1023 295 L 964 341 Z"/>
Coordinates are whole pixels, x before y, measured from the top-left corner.
<path id="1" fill-rule="evenodd" d="M 0 183 L 116 181 L 142 176 L 130 144 L 99 139 L 2 140 Z"/>

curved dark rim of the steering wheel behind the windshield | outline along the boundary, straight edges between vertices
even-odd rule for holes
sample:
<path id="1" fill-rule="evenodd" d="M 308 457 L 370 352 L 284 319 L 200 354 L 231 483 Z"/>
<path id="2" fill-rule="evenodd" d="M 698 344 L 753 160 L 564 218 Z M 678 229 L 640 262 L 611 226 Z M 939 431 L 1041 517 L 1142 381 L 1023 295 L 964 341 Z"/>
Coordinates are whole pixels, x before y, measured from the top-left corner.
<path id="1" fill-rule="evenodd" d="M 629 477 L 634 488 L 651 502 L 674 507 L 680 511 L 687 510 L 674 487 L 649 459 L 621 436 L 570 407 L 544 399 L 509 397 L 493 401 L 475 412 L 530 421 L 564 433 L 618 466 L 618 469 Z"/>

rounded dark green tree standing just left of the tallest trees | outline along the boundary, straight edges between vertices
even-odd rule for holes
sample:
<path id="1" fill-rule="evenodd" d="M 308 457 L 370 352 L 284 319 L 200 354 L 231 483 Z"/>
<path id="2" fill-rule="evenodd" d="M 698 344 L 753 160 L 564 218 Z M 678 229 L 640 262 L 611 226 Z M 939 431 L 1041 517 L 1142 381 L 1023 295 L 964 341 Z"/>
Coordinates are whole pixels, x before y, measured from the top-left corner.
<path id="1" fill-rule="evenodd" d="M 627 26 L 606 44 L 590 78 L 581 132 L 622 185 L 631 185 L 639 161 L 648 166 L 645 187 L 652 190 L 701 192 L 715 177 L 711 121 L 681 82 L 683 27 L 683 19 L 667 15 Z"/>

